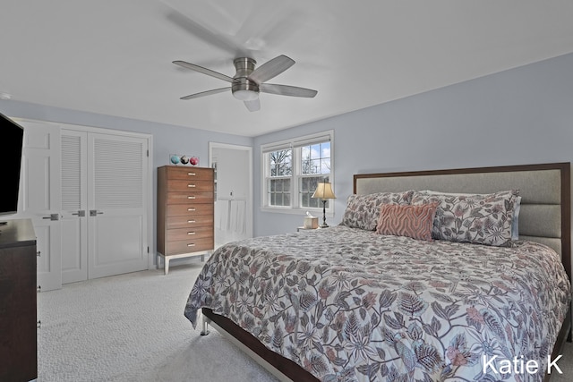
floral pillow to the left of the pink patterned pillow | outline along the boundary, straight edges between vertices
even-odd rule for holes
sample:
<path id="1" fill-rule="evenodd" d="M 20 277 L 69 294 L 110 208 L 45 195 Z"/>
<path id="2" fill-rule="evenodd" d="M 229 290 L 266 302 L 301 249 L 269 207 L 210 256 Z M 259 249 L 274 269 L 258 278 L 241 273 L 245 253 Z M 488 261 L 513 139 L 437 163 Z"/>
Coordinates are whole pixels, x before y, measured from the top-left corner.
<path id="1" fill-rule="evenodd" d="M 378 192 L 367 195 L 350 195 L 340 225 L 373 231 L 378 225 L 382 204 L 408 205 L 414 191 Z"/>

